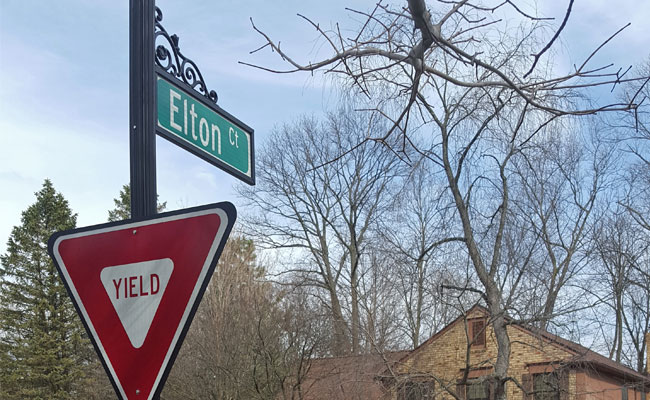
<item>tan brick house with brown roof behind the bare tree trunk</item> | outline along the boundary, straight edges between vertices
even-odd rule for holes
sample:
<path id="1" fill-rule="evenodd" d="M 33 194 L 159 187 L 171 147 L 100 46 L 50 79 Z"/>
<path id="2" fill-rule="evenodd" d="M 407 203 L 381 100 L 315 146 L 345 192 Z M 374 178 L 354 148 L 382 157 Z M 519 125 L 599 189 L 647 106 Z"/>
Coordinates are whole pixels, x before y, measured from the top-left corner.
<path id="1" fill-rule="evenodd" d="M 640 374 L 577 343 L 515 324 L 508 326 L 508 336 L 513 378 L 506 384 L 508 399 L 646 400 L 650 391 L 647 372 Z M 304 398 L 489 400 L 492 390 L 485 377 L 493 372 L 496 353 L 487 311 L 475 306 L 413 351 L 314 360 L 316 368 L 305 382 L 315 390 L 307 390 Z M 336 374 L 327 373 L 333 370 Z M 363 379 L 355 380 L 361 371 Z"/>

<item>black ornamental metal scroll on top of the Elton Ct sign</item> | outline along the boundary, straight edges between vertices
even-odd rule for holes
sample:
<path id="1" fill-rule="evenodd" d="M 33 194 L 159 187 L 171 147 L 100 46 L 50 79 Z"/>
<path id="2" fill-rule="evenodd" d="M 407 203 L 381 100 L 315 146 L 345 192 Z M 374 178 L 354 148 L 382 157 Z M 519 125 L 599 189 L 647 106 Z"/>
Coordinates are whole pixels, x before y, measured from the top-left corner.
<path id="1" fill-rule="evenodd" d="M 188 84 L 201 95 L 210 99 L 210 101 L 216 103 L 218 99 L 217 92 L 214 90 L 208 91 L 199 67 L 197 67 L 194 61 L 181 53 L 178 46 L 178 36 L 167 33 L 161 24 L 162 18 L 162 11 L 156 7 L 154 28 L 156 65 Z M 160 39 L 160 44 L 158 44 L 158 39 Z"/>

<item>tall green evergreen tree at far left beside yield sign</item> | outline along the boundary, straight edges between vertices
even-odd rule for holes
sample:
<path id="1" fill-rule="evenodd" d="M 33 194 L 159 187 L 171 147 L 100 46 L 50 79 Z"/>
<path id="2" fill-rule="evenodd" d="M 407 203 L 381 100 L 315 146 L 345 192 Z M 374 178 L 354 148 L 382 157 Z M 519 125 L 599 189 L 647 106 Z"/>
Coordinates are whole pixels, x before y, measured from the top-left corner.
<path id="1" fill-rule="evenodd" d="M 0 256 L 0 398 L 71 399 L 81 393 L 88 340 L 47 253 L 77 215 L 45 180 Z"/>

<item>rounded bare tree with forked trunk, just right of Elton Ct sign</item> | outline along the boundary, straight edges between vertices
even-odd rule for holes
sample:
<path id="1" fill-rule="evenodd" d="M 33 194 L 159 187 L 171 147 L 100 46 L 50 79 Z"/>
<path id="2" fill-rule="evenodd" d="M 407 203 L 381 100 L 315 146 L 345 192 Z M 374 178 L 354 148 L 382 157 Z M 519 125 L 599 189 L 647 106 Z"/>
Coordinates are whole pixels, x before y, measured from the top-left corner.
<path id="1" fill-rule="evenodd" d="M 360 135 L 380 129 L 376 121 L 344 110 L 322 124 L 304 118 L 285 125 L 260 152 L 265 173 L 257 186 L 240 187 L 258 212 L 247 221 L 249 234 L 271 248 L 299 250 L 304 258 L 285 272 L 325 293 L 335 355 L 360 351 L 361 259 L 400 174 L 397 160 L 379 144 L 341 155 Z"/>

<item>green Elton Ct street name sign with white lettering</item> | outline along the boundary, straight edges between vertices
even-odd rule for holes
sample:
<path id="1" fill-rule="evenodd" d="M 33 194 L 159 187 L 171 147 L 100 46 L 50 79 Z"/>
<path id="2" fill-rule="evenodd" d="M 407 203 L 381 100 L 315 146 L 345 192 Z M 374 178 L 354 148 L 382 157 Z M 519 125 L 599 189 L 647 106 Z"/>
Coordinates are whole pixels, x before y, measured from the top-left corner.
<path id="1" fill-rule="evenodd" d="M 253 129 L 193 89 L 158 73 L 156 132 L 244 182 L 255 184 Z"/>

